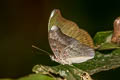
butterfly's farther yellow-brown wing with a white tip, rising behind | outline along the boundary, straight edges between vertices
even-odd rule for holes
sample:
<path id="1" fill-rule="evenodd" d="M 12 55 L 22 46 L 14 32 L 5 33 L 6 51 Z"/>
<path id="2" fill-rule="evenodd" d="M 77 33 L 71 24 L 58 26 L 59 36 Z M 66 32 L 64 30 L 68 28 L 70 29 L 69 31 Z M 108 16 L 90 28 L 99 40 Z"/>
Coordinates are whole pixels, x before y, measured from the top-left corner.
<path id="1" fill-rule="evenodd" d="M 70 36 L 79 42 L 94 48 L 94 43 L 89 33 L 83 29 L 80 29 L 75 22 L 62 17 L 61 12 L 58 9 L 53 10 L 51 13 L 48 23 L 48 31 L 54 25 L 59 27 L 67 36 Z"/>

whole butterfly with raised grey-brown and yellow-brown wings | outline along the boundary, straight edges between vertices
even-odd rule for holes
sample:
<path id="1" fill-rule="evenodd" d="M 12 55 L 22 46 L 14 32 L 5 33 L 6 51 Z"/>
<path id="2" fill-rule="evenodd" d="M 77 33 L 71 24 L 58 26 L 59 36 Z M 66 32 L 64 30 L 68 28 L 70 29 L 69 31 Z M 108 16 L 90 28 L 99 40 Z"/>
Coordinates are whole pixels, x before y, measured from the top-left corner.
<path id="1" fill-rule="evenodd" d="M 95 56 L 90 35 L 72 21 L 64 19 L 58 9 L 50 15 L 48 40 L 53 51 L 50 58 L 60 64 L 82 63 Z"/>

